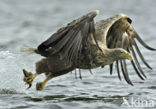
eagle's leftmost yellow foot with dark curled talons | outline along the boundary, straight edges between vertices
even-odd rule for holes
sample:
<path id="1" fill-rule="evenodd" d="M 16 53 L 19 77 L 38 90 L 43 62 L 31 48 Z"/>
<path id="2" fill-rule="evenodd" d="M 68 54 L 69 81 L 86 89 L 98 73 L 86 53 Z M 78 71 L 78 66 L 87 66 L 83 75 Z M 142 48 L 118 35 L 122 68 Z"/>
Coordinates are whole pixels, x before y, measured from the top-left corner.
<path id="1" fill-rule="evenodd" d="M 29 87 L 27 89 L 29 89 L 32 86 L 33 80 L 35 79 L 35 77 L 38 75 L 37 73 L 32 74 L 31 72 L 26 71 L 25 69 L 23 69 L 23 73 L 24 73 L 24 82 L 26 84 L 29 85 Z"/>

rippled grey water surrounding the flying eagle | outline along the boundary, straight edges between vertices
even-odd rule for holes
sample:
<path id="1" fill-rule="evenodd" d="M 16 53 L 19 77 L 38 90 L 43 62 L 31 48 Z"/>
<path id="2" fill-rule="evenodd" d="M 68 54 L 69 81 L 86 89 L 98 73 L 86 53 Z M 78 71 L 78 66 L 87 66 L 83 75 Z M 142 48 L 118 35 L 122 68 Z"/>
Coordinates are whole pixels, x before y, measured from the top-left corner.
<path id="1" fill-rule="evenodd" d="M 147 79 L 140 80 L 128 66 L 134 86 L 119 81 L 108 67 L 83 71 L 83 79 L 75 79 L 68 73 L 49 81 L 41 92 L 35 84 L 27 90 L 22 69 L 35 72 L 35 62 L 42 57 L 20 53 L 23 46 L 36 47 L 58 28 L 91 10 L 99 9 L 95 20 L 117 13 L 125 13 L 133 20 L 133 26 L 149 45 L 156 48 L 155 0 L 1 0 L 0 1 L 0 109 L 125 109 L 123 98 L 154 101 L 156 107 L 156 59 L 155 52 L 140 46 L 153 70 L 142 67 Z M 140 108 L 139 108 L 140 109 Z"/>

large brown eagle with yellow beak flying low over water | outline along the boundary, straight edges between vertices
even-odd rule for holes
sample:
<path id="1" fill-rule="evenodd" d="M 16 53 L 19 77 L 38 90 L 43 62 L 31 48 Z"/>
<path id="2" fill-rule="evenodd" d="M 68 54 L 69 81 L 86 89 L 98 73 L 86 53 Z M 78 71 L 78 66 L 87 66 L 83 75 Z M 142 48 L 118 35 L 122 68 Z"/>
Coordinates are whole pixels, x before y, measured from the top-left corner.
<path id="1" fill-rule="evenodd" d="M 117 14 L 95 23 L 94 18 L 98 14 L 99 10 L 94 10 L 73 20 L 37 48 L 21 49 L 22 52 L 36 53 L 44 57 L 36 62 L 36 73 L 23 69 L 24 82 L 29 85 L 28 88 L 32 86 L 35 77 L 42 73 L 46 75 L 45 80 L 36 84 L 36 90 L 40 91 L 50 79 L 76 69 L 79 69 L 82 78 L 81 69 L 88 69 L 92 73 L 91 69 L 109 65 L 112 74 L 114 64 L 118 78 L 121 80 L 122 72 L 126 82 L 133 85 L 126 59 L 142 80 L 146 78 L 137 56 L 149 69 L 152 68 L 146 62 L 137 43 L 152 51 L 156 49 L 148 46 L 140 38 L 127 15 Z"/>

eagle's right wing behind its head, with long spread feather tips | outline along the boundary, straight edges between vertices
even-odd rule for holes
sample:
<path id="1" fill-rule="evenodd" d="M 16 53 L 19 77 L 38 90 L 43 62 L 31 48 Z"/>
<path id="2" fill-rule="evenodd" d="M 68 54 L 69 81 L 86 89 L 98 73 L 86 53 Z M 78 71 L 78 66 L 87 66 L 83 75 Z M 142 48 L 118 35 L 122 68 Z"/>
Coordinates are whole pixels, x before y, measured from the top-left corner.
<path id="1" fill-rule="evenodd" d="M 107 47 L 108 48 L 123 48 L 123 49 L 127 50 L 128 52 L 130 52 L 133 56 L 133 60 L 131 61 L 131 64 L 132 64 L 133 68 L 135 69 L 136 73 L 138 74 L 138 76 L 142 80 L 144 80 L 144 78 L 146 78 L 146 75 L 144 74 L 144 72 L 139 64 L 138 58 L 136 56 L 136 52 L 137 52 L 138 56 L 140 57 L 140 59 L 143 61 L 143 63 L 149 69 L 152 69 L 152 68 L 144 59 L 144 56 L 140 52 L 139 47 L 135 40 L 137 40 L 140 44 L 142 44 L 145 48 L 147 48 L 149 50 L 156 50 L 156 49 L 149 47 L 140 38 L 140 36 L 137 34 L 137 32 L 132 27 L 132 25 L 131 25 L 132 21 L 128 16 L 123 15 L 123 14 L 118 15 L 118 16 L 121 16 L 121 17 L 118 17 L 118 19 L 114 19 L 115 20 L 114 23 L 112 23 L 112 25 L 110 26 L 110 28 L 107 32 L 107 36 L 106 36 Z M 134 50 L 134 48 L 135 48 L 135 50 Z M 119 67 L 119 63 L 120 63 L 121 67 Z M 112 71 L 113 71 L 113 64 L 110 65 L 110 74 L 112 74 Z M 127 83 L 133 85 L 129 78 L 129 75 L 128 75 L 126 60 L 116 61 L 116 70 L 118 73 L 118 77 L 121 80 L 119 68 L 121 68 L 121 71 L 122 71 L 123 76 L 124 76 L 125 80 L 127 81 Z"/>

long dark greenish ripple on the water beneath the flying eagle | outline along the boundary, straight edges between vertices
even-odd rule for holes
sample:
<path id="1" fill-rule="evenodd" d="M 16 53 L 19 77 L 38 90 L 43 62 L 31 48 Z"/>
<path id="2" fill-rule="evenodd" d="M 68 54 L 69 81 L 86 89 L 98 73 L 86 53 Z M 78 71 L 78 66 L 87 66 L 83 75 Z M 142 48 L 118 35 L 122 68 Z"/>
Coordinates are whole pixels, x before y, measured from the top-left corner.
<path id="1" fill-rule="evenodd" d="M 104 101 L 104 102 L 112 102 L 114 100 L 122 100 L 123 97 L 128 98 L 129 95 L 114 95 L 114 96 L 98 96 L 93 95 L 91 97 L 84 97 L 84 96 L 65 96 L 65 95 L 47 95 L 44 97 L 31 97 L 27 96 L 24 97 L 26 101 L 32 102 L 41 102 L 41 101 L 49 101 L 51 100 L 53 103 L 57 102 L 73 102 L 73 101 L 81 101 L 81 102 L 95 102 L 95 101 Z"/>

